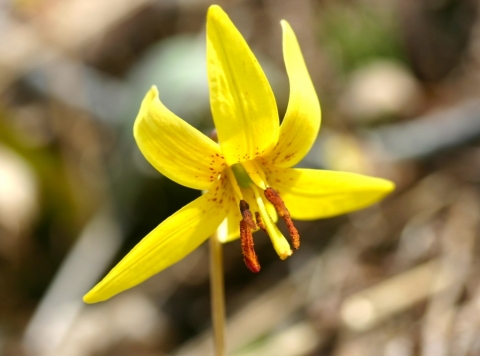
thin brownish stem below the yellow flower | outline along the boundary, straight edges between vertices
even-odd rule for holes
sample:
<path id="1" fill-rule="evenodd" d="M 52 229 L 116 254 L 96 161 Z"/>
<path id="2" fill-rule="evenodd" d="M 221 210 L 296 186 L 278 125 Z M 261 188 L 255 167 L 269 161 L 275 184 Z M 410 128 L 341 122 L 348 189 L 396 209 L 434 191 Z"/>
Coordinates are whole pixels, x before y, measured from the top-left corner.
<path id="1" fill-rule="evenodd" d="M 215 233 L 210 239 L 210 293 L 215 356 L 225 356 L 225 292 L 222 244 Z"/>

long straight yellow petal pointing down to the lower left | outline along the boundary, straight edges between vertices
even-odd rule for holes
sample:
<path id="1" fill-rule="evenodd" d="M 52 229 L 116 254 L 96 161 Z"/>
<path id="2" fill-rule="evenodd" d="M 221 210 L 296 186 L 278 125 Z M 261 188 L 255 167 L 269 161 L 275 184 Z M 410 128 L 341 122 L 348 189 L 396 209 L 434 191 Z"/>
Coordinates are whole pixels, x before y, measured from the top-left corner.
<path id="1" fill-rule="evenodd" d="M 218 190 L 217 190 L 218 188 Z M 158 225 L 83 300 L 107 300 L 178 262 L 211 236 L 227 215 L 231 191 L 224 179 Z"/>

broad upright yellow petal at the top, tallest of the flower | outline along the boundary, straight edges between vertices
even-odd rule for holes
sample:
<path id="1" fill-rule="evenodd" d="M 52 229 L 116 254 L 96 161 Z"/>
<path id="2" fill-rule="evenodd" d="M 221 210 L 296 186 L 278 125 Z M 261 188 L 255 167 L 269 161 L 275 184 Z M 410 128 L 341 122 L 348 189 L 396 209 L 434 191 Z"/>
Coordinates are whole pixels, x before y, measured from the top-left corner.
<path id="1" fill-rule="evenodd" d="M 223 10 L 207 16 L 210 105 L 228 165 L 273 149 L 279 120 L 270 84 L 257 59 Z"/>

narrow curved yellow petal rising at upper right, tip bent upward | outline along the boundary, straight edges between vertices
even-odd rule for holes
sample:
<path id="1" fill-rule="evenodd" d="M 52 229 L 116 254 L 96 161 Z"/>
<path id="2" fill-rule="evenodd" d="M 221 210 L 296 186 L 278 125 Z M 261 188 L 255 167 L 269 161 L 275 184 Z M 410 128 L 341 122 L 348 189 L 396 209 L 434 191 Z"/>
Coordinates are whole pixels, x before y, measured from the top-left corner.
<path id="1" fill-rule="evenodd" d="M 278 144 L 265 159 L 276 166 L 291 167 L 305 157 L 315 142 L 320 129 L 321 112 L 295 33 L 286 21 L 281 24 L 290 98 L 280 126 Z"/>

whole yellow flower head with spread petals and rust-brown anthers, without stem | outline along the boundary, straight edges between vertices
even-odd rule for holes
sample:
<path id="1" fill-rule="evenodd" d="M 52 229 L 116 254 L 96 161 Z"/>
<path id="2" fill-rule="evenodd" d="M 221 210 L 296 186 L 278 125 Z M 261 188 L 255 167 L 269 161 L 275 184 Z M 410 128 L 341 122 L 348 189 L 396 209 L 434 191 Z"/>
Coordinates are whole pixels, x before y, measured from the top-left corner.
<path id="1" fill-rule="evenodd" d="M 178 262 L 222 224 L 222 242 L 241 236 L 247 267 L 260 269 L 252 231 L 264 230 L 280 258 L 292 254 L 277 228 L 285 220 L 292 246 L 300 237 L 291 218 L 312 220 L 366 207 L 393 183 L 353 173 L 289 168 L 312 147 L 320 105 L 295 34 L 286 21 L 283 56 L 290 98 L 281 125 L 272 89 L 247 43 L 219 6 L 207 16 L 207 70 L 218 142 L 169 111 L 152 87 L 134 136 L 146 159 L 175 182 L 206 193 L 150 232 L 84 301 L 95 303 L 129 289 Z M 186 103 L 188 105 L 188 103 Z"/>

